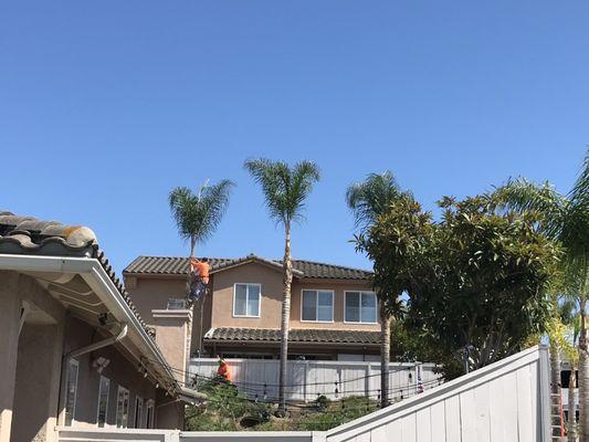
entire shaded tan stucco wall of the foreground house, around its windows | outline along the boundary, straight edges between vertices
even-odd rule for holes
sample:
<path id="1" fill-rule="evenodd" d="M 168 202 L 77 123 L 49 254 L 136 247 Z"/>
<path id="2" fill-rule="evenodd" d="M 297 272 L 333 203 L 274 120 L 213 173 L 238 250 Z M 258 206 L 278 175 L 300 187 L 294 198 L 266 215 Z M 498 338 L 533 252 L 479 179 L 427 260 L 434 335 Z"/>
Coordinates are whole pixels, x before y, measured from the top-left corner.
<path id="1" fill-rule="evenodd" d="M 23 302 L 31 306 L 19 336 Z M 54 429 L 63 415 L 60 403 L 62 356 L 103 339 L 96 327 L 70 316 L 64 306 L 35 280 L 15 272 L 0 271 L 0 441 L 54 441 Z M 118 385 L 129 390 L 129 425 L 135 415 L 135 398 L 156 399 L 156 387 L 137 370 L 138 361 L 123 344 L 105 347 L 78 358 L 75 425 L 96 427 L 99 373 L 92 360 L 103 356 L 111 364 L 103 375 L 111 379 L 107 422 L 116 422 Z M 64 385 L 62 385 L 64 387 Z M 63 389 L 62 389 L 63 391 Z M 168 398 L 169 399 L 169 398 Z M 157 406 L 156 415 L 157 420 Z M 144 403 L 144 415 L 146 406 Z M 175 419 L 169 414 L 176 409 Z M 165 412 L 162 422 L 181 428 L 180 407 Z"/>

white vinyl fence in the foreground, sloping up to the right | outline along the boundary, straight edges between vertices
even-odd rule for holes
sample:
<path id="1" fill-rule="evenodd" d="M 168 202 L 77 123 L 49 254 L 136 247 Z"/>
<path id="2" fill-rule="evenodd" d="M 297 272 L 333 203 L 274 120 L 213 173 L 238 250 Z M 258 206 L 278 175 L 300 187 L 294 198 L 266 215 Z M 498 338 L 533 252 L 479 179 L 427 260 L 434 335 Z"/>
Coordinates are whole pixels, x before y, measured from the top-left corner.
<path id="1" fill-rule="evenodd" d="M 57 433 L 60 442 L 549 442 L 549 385 L 548 350 L 534 347 L 327 432 Z"/>

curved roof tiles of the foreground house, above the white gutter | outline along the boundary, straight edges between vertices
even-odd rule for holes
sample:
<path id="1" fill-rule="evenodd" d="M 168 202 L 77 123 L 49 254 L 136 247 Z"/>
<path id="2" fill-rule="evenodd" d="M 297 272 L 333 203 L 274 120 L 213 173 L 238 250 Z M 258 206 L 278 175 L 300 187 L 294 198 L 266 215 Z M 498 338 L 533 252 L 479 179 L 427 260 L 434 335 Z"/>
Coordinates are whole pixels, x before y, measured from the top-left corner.
<path id="1" fill-rule="evenodd" d="M 104 252 L 98 248 L 94 232 L 81 225 L 67 225 L 57 221 L 41 221 L 33 217 L 20 217 L 0 210 L 0 254 L 29 254 L 45 256 L 85 256 L 96 259 L 118 292 L 154 337 L 152 329 L 141 319 L 123 282 L 116 276 Z"/>

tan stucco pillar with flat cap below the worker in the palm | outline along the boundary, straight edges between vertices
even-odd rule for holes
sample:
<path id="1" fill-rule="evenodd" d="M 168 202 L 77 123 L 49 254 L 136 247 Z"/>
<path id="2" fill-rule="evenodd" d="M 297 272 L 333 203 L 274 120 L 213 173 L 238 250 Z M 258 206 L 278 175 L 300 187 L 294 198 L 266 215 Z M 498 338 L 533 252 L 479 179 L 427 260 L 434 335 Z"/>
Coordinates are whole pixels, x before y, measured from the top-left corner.
<path id="1" fill-rule="evenodd" d="M 192 312 L 188 309 L 151 311 L 156 327 L 156 344 L 164 354 L 176 378 L 186 382 L 186 371 L 190 358 L 190 323 Z"/>

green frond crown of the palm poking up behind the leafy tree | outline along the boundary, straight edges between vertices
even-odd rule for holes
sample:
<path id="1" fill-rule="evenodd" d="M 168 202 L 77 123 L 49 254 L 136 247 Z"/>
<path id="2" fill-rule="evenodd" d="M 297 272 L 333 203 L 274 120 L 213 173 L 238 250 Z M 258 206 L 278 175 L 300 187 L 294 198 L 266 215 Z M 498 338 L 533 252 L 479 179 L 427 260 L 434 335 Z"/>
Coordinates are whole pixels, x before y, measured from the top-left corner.
<path id="1" fill-rule="evenodd" d="M 397 180 L 388 170 L 370 173 L 364 181 L 353 183 L 346 191 L 346 202 L 354 213 L 356 228 L 364 230 L 374 224 L 388 206 L 402 194 Z"/>

